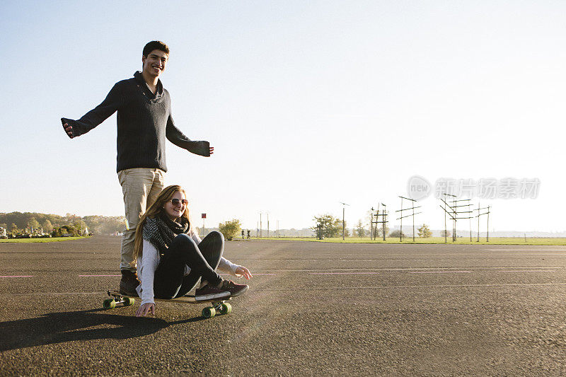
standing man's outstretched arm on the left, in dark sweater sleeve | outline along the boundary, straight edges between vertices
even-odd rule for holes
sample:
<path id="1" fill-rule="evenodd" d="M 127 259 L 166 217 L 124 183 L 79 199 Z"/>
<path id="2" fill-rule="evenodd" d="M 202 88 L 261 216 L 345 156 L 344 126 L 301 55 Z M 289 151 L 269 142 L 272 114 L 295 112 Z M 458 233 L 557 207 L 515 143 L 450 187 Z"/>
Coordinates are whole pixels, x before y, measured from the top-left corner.
<path id="1" fill-rule="evenodd" d="M 123 101 L 124 96 L 117 87 L 117 84 L 110 89 L 110 93 L 106 96 L 100 105 L 87 112 L 81 119 L 72 120 L 69 118 L 61 118 L 63 128 L 67 135 L 72 139 L 74 137 L 86 134 L 88 131 L 104 122 L 110 115 L 114 114 Z"/>

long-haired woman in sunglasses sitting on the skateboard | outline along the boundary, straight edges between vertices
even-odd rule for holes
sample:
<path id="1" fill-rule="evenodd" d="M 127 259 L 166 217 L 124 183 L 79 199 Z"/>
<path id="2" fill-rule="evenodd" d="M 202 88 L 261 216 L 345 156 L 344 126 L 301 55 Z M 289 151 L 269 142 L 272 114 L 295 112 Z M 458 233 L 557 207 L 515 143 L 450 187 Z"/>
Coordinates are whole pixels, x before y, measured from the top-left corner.
<path id="1" fill-rule="evenodd" d="M 239 296 L 248 290 L 246 284 L 224 280 L 216 272 L 250 279 L 243 266 L 222 257 L 224 236 L 210 232 L 200 240 L 190 224 L 185 190 L 178 185 L 163 189 L 156 202 L 141 216 L 136 229 L 134 258 L 137 258 L 141 284 L 137 293 L 141 305 L 138 317 L 155 314 L 155 298 L 175 298 L 195 291 L 197 300 Z"/>

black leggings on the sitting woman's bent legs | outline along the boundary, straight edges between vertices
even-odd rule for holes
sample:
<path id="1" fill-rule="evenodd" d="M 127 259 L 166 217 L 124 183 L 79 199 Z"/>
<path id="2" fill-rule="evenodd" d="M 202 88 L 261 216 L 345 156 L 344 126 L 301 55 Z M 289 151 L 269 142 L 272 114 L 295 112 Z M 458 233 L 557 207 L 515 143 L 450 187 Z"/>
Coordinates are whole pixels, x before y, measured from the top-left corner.
<path id="1" fill-rule="evenodd" d="M 154 277 L 156 298 L 184 296 L 195 287 L 200 277 L 210 284 L 218 284 L 222 278 L 216 267 L 224 253 L 224 236 L 212 231 L 197 245 L 190 236 L 181 233 L 173 240 L 157 266 Z M 185 265 L 190 274 L 184 276 Z"/>

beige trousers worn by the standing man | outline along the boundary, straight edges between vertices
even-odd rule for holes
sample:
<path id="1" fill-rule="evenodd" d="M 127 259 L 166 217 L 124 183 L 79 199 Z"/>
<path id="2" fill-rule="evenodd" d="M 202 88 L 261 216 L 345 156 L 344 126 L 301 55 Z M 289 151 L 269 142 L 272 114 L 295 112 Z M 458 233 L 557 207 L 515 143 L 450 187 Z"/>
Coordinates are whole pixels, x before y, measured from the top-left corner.
<path id="1" fill-rule="evenodd" d="M 124 193 L 126 229 L 122 236 L 120 269 L 136 271 L 134 239 L 139 218 L 155 202 L 163 190 L 165 172 L 160 169 L 132 168 L 120 170 L 118 180 Z"/>

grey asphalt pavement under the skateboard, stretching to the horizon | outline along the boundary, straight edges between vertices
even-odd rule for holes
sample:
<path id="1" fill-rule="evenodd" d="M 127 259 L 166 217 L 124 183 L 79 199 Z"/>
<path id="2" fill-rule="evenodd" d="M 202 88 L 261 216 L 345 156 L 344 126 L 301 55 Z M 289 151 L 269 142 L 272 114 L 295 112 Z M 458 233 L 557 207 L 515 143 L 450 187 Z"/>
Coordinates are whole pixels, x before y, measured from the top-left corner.
<path id="1" fill-rule="evenodd" d="M 0 243 L 3 376 L 566 376 L 566 246 L 231 241 L 254 277 L 210 319 L 104 310 L 119 249 Z"/>

